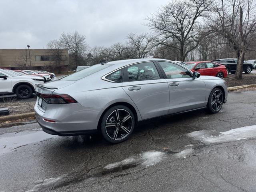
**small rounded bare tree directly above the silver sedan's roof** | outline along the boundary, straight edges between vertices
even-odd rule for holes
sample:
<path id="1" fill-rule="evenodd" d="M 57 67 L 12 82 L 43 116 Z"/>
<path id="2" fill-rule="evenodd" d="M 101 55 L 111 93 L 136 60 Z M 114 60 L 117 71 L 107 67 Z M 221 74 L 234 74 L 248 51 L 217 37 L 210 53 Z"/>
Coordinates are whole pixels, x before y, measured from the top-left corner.
<path id="1" fill-rule="evenodd" d="M 127 44 L 132 47 L 135 51 L 136 58 L 144 58 L 151 54 L 154 45 L 152 44 L 154 38 L 147 33 L 136 35 L 135 33 L 130 33 L 127 36 Z"/>

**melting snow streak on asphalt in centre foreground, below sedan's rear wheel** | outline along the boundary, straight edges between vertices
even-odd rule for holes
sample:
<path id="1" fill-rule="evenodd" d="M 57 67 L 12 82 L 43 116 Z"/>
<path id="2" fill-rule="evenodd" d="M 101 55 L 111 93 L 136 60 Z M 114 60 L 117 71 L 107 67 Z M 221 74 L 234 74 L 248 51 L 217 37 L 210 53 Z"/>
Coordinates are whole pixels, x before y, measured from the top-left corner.
<path id="1" fill-rule="evenodd" d="M 132 166 L 132 165 L 143 165 L 146 167 L 153 166 L 159 163 L 165 156 L 164 152 L 159 151 L 147 151 L 136 156 L 130 156 L 122 161 L 108 164 L 104 169 L 110 170 L 122 166 Z"/>

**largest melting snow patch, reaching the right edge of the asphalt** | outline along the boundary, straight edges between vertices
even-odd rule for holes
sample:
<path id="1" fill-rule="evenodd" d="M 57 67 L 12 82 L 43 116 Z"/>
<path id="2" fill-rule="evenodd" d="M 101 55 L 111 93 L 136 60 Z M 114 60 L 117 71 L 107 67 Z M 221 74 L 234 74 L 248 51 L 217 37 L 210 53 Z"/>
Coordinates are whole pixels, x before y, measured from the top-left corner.
<path id="1" fill-rule="evenodd" d="M 194 131 L 187 135 L 203 142 L 204 144 L 233 142 L 241 139 L 256 138 L 256 125 L 236 128 L 225 132 L 207 130 Z"/>

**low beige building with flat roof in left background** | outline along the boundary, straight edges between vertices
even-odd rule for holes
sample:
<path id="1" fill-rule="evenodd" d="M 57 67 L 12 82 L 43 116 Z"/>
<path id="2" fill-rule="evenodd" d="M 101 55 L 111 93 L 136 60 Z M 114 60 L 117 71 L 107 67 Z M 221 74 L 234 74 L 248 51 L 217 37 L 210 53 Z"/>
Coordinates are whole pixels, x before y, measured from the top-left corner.
<path id="1" fill-rule="evenodd" d="M 68 49 L 0 49 L 0 68 L 11 69 L 41 69 L 41 68 L 67 68 L 69 64 Z M 56 55 L 59 55 L 59 66 L 56 66 Z M 31 61 L 31 67 L 30 67 Z M 58 65 L 58 64 L 57 64 Z"/>

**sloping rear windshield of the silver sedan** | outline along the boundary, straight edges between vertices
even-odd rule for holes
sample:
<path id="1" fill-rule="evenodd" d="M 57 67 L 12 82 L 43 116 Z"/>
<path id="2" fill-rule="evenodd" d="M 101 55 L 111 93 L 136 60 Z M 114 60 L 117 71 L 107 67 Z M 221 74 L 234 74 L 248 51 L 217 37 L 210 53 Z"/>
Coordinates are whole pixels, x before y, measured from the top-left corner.
<path id="1" fill-rule="evenodd" d="M 111 64 L 104 64 L 104 65 L 101 65 L 101 64 L 97 64 L 97 65 L 93 65 L 91 67 L 88 67 L 86 68 L 86 70 L 81 70 L 81 71 L 78 71 L 78 72 L 75 72 L 71 75 L 68 75 L 64 78 L 62 78 L 61 80 L 70 80 L 70 81 L 77 81 L 81 78 L 84 78 L 84 77 L 87 77 L 89 76 L 90 74 L 93 74 L 93 73 L 96 73 L 102 69 L 105 69 L 107 67 L 111 66 Z"/>

